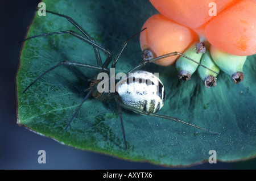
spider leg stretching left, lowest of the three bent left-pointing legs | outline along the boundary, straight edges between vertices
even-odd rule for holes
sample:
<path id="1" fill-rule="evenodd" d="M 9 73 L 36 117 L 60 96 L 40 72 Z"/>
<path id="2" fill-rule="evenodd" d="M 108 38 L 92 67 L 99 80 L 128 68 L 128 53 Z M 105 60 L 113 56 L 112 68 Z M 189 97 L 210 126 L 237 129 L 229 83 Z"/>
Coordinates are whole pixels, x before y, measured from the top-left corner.
<path id="1" fill-rule="evenodd" d="M 30 85 L 27 86 L 27 88 L 22 92 L 26 92 L 28 90 L 28 88 L 30 88 L 30 86 L 32 86 L 36 81 L 38 81 L 40 78 L 42 78 L 45 74 L 47 74 L 49 71 L 57 68 L 60 65 L 73 65 L 73 66 L 81 66 L 81 67 L 85 67 L 85 68 L 90 68 L 90 69 L 97 69 L 97 70 L 104 70 L 104 71 L 109 71 L 108 68 L 102 68 L 100 66 L 94 66 L 94 65 L 89 65 L 89 64 L 81 64 L 78 62 L 68 62 L 68 61 L 62 61 L 59 64 L 53 66 L 52 68 L 49 68 L 48 70 L 44 71 L 43 74 L 39 75 L 38 78 L 36 78 L 32 83 L 30 83 Z"/>

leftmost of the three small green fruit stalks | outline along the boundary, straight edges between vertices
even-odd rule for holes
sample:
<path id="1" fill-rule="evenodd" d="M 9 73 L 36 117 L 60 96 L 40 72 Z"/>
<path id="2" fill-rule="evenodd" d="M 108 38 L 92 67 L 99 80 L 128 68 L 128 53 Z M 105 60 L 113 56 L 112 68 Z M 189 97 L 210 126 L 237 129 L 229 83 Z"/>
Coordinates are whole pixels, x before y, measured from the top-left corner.
<path id="1" fill-rule="evenodd" d="M 203 55 L 203 53 L 196 53 L 196 46 L 194 43 L 192 43 L 184 52 L 183 54 L 189 58 L 192 58 L 196 62 L 200 63 L 200 59 Z M 176 69 L 179 72 L 178 76 L 180 79 L 183 79 L 184 81 L 187 81 L 191 79 L 191 75 L 196 71 L 199 64 L 196 64 L 195 62 L 188 60 L 185 57 L 180 56 L 176 60 Z"/>

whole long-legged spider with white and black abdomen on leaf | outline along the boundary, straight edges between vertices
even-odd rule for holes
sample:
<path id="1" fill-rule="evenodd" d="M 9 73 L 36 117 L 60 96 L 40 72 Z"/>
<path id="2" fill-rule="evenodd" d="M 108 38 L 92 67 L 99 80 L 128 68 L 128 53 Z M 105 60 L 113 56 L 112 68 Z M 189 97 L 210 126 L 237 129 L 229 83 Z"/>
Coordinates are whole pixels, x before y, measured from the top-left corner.
<path id="1" fill-rule="evenodd" d="M 75 36 L 75 37 L 81 39 L 82 41 L 85 41 L 86 43 L 92 45 L 92 47 L 94 49 L 94 54 L 96 56 L 96 61 L 97 61 L 97 66 L 90 65 L 90 64 L 82 64 L 79 62 L 62 61 L 59 64 L 53 66 L 52 68 L 49 68 L 48 70 L 46 70 L 43 74 L 41 74 L 38 78 L 36 78 L 32 83 L 30 83 L 30 85 L 28 85 L 27 88 L 23 91 L 23 94 L 24 94 L 32 85 L 34 85 L 34 83 L 36 83 L 45 74 L 49 73 L 49 71 L 52 71 L 53 69 L 55 69 L 61 65 L 79 66 L 79 67 L 98 70 L 98 73 L 96 75 L 94 75 L 94 79 L 90 80 L 89 88 L 85 90 L 86 91 L 85 98 L 82 100 L 82 102 L 76 108 L 75 113 L 73 113 L 73 116 L 68 121 L 67 126 L 64 128 L 64 130 L 68 129 L 69 125 L 72 123 L 72 120 L 75 118 L 77 112 L 80 110 L 82 104 L 84 104 L 86 99 L 88 99 L 89 96 L 93 96 L 94 98 L 102 100 L 102 101 L 110 102 L 110 101 L 114 100 L 115 103 L 117 104 L 117 110 L 118 110 L 118 115 L 119 115 L 119 119 L 121 122 L 122 134 L 123 134 L 123 142 L 124 142 L 126 150 L 127 150 L 127 143 L 126 143 L 126 137 L 125 137 L 125 128 L 123 126 L 121 107 L 125 108 L 126 110 L 130 110 L 135 113 L 139 113 L 141 115 L 161 117 L 163 119 L 177 121 L 177 122 L 189 125 L 191 127 L 202 129 L 204 131 L 207 131 L 207 132 L 210 132 L 213 134 L 219 134 L 219 133 L 216 133 L 213 131 L 209 131 L 208 129 L 205 129 L 205 128 L 197 127 L 196 125 L 189 124 L 185 121 L 177 119 L 176 117 L 156 114 L 156 112 L 158 112 L 160 110 L 160 108 L 162 108 L 164 105 L 166 93 L 164 90 L 163 83 L 160 81 L 160 79 L 156 75 L 154 75 L 148 71 L 138 70 L 146 64 L 149 64 L 151 62 L 154 62 L 156 60 L 160 60 L 161 58 L 165 58 L 165 57 L 169 57 L 169 56 L 180 55 L 185 58 L 188 58 L 188 60 L 195 62 L 194 60 L 192 60 L 191 58 L 189 58 L 179 52 L 172 52 L 172 53 L 164 54 L 163 56 L 159 56 L 159 57 L 155 57 L 155 58 L 148 58 L 148 57 L 150 57 L 150 54 L 145 55 L 146 52 L 143 52 L 144 61 L 141 62 L 141 64 L 138 64 L 137 66 L 135 66 L 133 69 L 129 70 L 126 73 L 127 77 L 122 78 L 121 81 L 119 81 L 118 83 L 115 84 L 117 91 L 113 92 L 113 91 L 107 90 L 107 91 L 102 92 L 102 91 L 99 91 L 99 88 L 100 87 L 102 88 L 102 85 L 100 86 L 100 83 L 102 83 L 102 81 L 101 81 L 101 79 L 96 78 L 97 75 L 100 75 L 100 73 L 108 74 L 108 79 L 105 80 L 105 83 L 110 83 L 110 81 L 113 77 L 110 76 L 111 69 L 109 70 L 108 66 L 112 63 L 111 68 L 115 68 L 115 65 L 117 64 L 117 62 L 119 60 L 119 57 L 121 56 L 121 54 L 122 54 L 123 50 L 125 49 L 126 45 L 128 44 L 128 42 L 130 40 L 132 40 L 135 36 L 138 36 L 141 33 L 141 31 L 144 31 L 146 28 L 144 28 L 140 32 L 138 32 L 135 35 L 133 35 L 132 37 L 130 37 L 130 39 L 126 40 L 125 43 L 123 43 L 121 50 L 119 51 L 119 53 L 117 54 L 115 59 L 112 61 L 112 58 L 113 58 L 112 53 L 105 47 L 102 47 L 101 45 L 97 44 L 96 41 L 92 37 L 90 37 L 88 35 L 88 33 L 86 33 L 86 31 L 81 26 L 79 26 L 79 24 L 77 24 L 75 22 L 75 20 L 73 20 L 71 17 L 62 15 L 62 14 L 59 14 L 56 12 L 48 11 L 48 10 L 46 10 L 46 12 L 48 12 L 50 14 L 57 15 L 57 16 L 61 16 L 65 19 L 67 19 L 69 22 L 71 22 L 73 24 L 73 26 L 75 26 L 77 28 L 77 30 L 79 30 L 82 33 L 82 35 L 74 32 L 74 31 L 58 31 L 58 32 L 49 32 L 49 33 L 31 36 L 31 37 L 28 37 L 27 39 L 24 39 L 23 41 L 27 41 L 29 39 L 34 39 L 34 38 L 40 37 L 40 36 L 69 34 L 69 35 Z M 102 62 L 102 60 L 101 60 L 100 51 L 104 52 L 108 56 L 104 62 Z M 199 64 L 199 63 L 196 62 L 196 64 Z M 207 68 L 204 65 L 201 65 L 201 64 L 199 64 L 199 65 L 203 66 L 204 68 Z M 209 68 L 207 68 L 207 69 L 209 69 Z M 211 70 L 211 71 L 213 71 L 213 70 Z M 105 87 L 105 85 L 104 85 L 104 87 Z M 106 90 L 106 87 L 104 90 Z"/>

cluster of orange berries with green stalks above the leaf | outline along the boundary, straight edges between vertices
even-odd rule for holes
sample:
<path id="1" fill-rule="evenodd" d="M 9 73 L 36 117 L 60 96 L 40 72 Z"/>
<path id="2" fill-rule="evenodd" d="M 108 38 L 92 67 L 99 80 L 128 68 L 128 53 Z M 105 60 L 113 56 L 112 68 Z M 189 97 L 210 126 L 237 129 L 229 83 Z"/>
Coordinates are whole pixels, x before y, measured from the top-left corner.
<path id="1" fill-rule="evenodd" d="M 143 25 L 140 41 L 152 58 L 180 52 L 181 56 L 155 61 L 169 66 L 176 62 L 179 77 L 191 78 L 197 71 L 206 87 L 216 85 L 220 70 L 235 83 L 243 80 L 246 57 L 256 53 L 255 0 L 150 0 L 160 14 Z"/>

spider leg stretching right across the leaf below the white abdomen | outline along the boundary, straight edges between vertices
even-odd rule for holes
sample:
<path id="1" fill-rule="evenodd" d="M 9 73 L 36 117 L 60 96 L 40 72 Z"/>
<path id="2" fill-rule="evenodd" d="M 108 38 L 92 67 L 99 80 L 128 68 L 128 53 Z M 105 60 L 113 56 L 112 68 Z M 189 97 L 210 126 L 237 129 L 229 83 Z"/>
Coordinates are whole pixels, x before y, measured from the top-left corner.
<path id="1" fill-rule="evenodd" d="M 207 132 L 210 132 L 210 133 L 213 133 L 213 134 L 220 135 L 220 133 L 216 133 L 216 132 L 213 132 L 213 131 L 209 131 L 208 129 L 197 127 L 196 125 L 189 124 L 189 123 L 187 123 L 185 121 L 181 121 L 180 119 L 177 119 L 176 117 L 164 116 L 164 115 L 158 115 L 156 113 L 146 112 L 146 111 L 143 111 L 143 110 L 139 110 L 138 108 L 135 108 L 135 107 L 127 106 L 126 104 L 123 104 L 121 102 L 119 104 L 120 104 L 121 107 L 125 108 L 126 110 L 130 110 L 130 111 L 133 111 L 133 112 L 136 112 L 136 113 L 140 113 L 140 114 L 143 114 L 143 115 L 161 117 L 163 119 L 168 119 L 168 120 L 176 121 L 176 122 L 179 122 L 179 123 L 187 124 L 187 125 L 189 125 L 191 127 L 195 127 L 195 128 L 202 129 L 204 131 L 207 131 Z"/>

